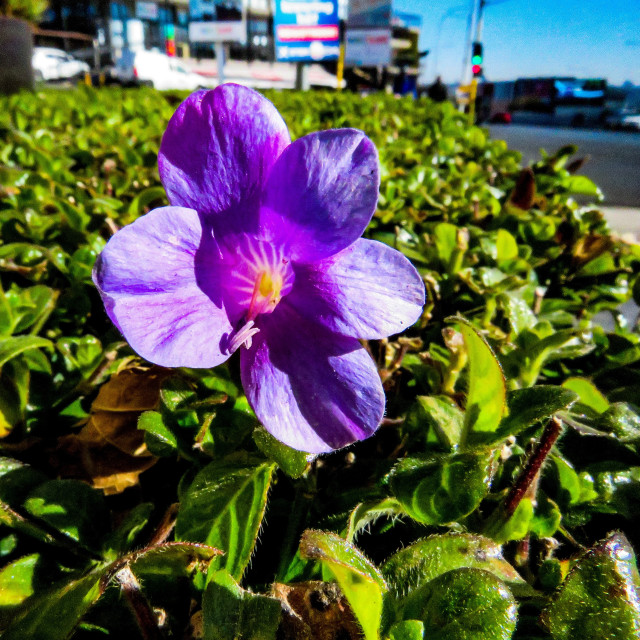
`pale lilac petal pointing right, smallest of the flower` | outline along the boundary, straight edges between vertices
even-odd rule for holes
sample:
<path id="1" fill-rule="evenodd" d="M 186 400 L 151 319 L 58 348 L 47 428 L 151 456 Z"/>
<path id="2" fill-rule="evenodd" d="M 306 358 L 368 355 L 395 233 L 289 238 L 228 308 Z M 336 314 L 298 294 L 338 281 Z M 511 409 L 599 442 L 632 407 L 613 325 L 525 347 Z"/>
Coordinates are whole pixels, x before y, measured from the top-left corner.
<path id="1" fill-rule="evenodd" d="M 400 333 L 420 317 L 424 283 L 399 251 L 361 238 L 326 260 L 297 267 L 287 303 L 332 331 L 373 340 Z"/>

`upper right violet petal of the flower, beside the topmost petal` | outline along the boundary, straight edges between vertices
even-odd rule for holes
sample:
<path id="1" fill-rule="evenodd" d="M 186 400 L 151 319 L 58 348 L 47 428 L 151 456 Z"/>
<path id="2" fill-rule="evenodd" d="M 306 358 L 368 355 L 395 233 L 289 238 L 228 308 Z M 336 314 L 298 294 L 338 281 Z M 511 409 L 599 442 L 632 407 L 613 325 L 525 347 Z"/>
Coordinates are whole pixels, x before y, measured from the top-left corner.
<path id="1" fill-rule="evenodd" d="M 292 260 L 313 262 L 358 239 L 378 201 L 378 153 L 362 131 L 335 129 L 287 147 L 267 181 L 260 222 L 288 246 Z"/>

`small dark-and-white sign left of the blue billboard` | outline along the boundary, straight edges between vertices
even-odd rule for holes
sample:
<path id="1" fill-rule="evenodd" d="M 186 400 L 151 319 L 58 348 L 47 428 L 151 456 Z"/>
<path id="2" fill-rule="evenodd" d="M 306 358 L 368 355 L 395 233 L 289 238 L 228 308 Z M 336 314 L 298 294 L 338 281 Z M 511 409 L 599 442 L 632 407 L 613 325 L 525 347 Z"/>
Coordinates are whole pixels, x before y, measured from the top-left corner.
<path id="1" fill-rule="evenodd" d="M 245 42 L 242 0 L 189 0 L 191 42 Z"/>

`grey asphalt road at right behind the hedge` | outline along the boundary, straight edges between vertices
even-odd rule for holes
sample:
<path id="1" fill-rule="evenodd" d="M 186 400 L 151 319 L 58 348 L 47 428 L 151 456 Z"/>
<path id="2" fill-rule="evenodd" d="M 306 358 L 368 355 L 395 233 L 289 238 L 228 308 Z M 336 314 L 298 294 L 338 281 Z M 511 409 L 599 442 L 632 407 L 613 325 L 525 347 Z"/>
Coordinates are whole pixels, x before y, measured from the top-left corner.
<path id="1" fill-rule="evenodd" d="M 640 207 L 640 134 L 519 124 L 491 125 L 489 130 L 493 138 L 520 151 L 525 165 L 540 159 L 540 149 L 553 153 L 566 144 L 577 145 L 576 158 L 591 156 L 580 173 L 602 189 L 605 205 Z"/>

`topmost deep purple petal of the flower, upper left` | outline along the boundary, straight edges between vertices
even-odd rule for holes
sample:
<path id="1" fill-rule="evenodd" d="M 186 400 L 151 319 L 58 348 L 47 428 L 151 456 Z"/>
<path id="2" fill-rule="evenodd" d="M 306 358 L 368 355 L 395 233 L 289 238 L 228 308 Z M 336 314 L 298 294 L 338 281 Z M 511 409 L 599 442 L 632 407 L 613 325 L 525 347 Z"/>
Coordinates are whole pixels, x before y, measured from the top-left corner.
<path id="1" fill-rule="evenodd" d="M 225 84 L 192 93 L 169 121 L 158 154 L 169 202 L 205 215 L 227 212 L 248 230 L 290 141 L 276 108 L 252 89 Z"/>

